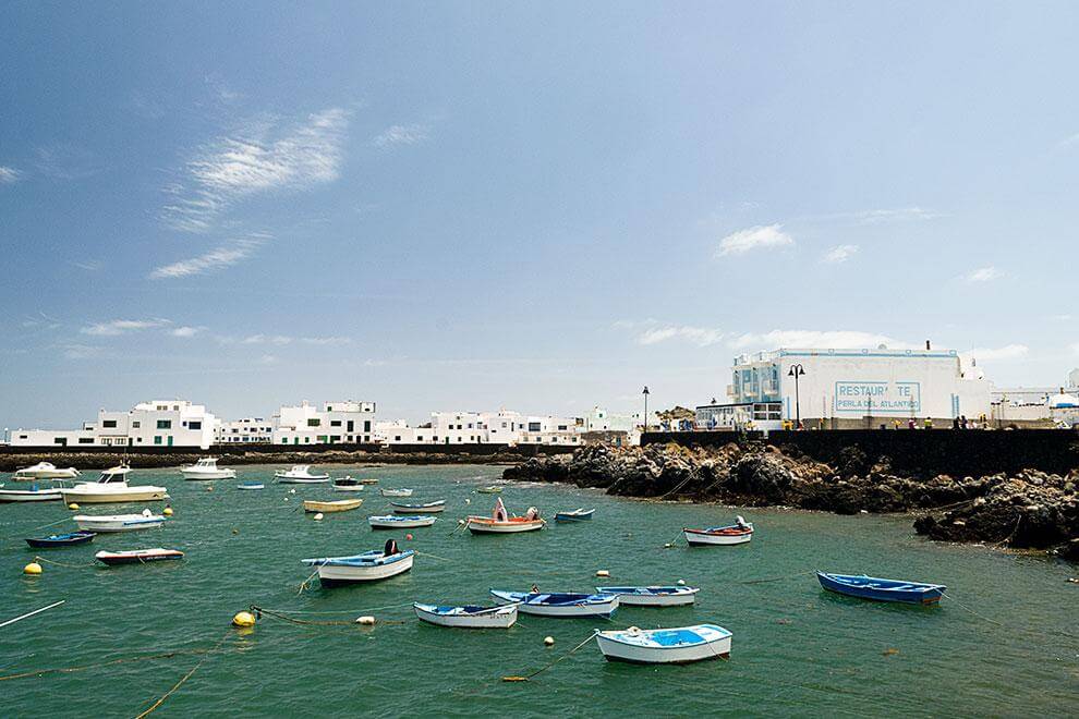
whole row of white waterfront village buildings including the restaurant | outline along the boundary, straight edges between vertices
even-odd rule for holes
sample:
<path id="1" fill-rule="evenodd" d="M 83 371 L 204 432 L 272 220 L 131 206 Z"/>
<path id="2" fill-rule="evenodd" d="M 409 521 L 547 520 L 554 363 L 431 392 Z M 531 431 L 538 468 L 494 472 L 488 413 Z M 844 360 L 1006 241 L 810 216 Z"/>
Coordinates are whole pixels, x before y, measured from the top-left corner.
<path id="1" fill-rule="evenodd" d="M 14 429 L 16 447 L 197 447 L 230 444 L 637 444 L 643 431 L 779 429 L 1052 428 L 1079 426 L 1079 369 L 1058 387 L 997 388 L 956 350 L 790 349 L 735 358 L 723 400 L 688 409 L 583 416 L 508 410 L 432 412 L 410 425 L 380 418 L 369 401 L 303 401 L 269 418 L 222 419 L 186 400 L 101 410 L 78 429 Z"/>

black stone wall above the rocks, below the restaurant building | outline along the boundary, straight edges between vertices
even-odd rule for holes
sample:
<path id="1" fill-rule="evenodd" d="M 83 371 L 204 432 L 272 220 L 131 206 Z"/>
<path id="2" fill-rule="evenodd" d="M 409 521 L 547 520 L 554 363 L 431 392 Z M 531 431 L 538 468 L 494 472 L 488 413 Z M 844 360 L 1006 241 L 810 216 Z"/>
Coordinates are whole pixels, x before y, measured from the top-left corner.
<path id="1" fill-rule="evenodd" d="M 1071 429 L 825 429 L 771 431 L 767 436 L 759 431 L 647 432 L 641 443 L 720 448 L 750 441 L 772 444 L 785 454 L 804 454 L 832 466 L 857 462 L 860 456 L 869 462 L 887 456 L 894 470 L 925 477 L 981 477 L 1022 470 L 1064 475 L 1079 467 L 1079 432 Z M 868 468 L 850 467 L 853 474 Z"/>

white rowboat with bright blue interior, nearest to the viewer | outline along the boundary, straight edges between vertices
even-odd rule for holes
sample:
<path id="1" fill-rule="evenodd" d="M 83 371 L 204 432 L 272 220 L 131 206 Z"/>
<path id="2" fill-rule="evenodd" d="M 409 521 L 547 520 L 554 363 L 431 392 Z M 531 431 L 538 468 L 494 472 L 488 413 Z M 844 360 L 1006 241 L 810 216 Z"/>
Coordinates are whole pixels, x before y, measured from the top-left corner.
<path id="1" fill-rule="evenodd" d="M 596 632 L 599 651 L 610 661 L 641 665 L 681 665 L 730 656 L 731 633 L 716 624 L 675 629 Z"/>

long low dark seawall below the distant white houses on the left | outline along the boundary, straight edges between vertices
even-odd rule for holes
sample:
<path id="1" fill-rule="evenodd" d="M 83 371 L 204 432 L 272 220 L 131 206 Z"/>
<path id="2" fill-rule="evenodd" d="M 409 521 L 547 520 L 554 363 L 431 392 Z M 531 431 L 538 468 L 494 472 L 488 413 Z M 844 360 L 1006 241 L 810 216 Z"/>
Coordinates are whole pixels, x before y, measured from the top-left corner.
<path id="1" fill-rule="evenodd" d="M 535 444 L 216 444 L 191 447 L 0 447 L 0 472 L 37 462 L 80 470 L 113 466 L 121 459 L 133 467 L 169 467 L 216 456 L 230 464 L 516 464 L 535 456 L 568 454 L 572 447 Z"/>

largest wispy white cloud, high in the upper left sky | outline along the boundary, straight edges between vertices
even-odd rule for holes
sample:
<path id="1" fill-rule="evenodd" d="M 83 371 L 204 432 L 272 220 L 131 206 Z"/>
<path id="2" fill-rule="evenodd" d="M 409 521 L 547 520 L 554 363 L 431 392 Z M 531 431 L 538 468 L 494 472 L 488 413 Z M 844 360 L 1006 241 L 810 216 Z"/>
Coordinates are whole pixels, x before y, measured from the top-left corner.
<path id="1" fill-rule="evenodd" d="M 349 115 L 342 108 L 329 108 L 299 124 L 251 122 L 218 137 L 166 188 L 174 200 L 162 209 L 165 221 L 184 232 L 207 232 L 228 207 L 245 197 L 337 180 Z"/>

